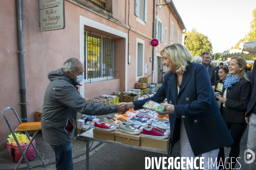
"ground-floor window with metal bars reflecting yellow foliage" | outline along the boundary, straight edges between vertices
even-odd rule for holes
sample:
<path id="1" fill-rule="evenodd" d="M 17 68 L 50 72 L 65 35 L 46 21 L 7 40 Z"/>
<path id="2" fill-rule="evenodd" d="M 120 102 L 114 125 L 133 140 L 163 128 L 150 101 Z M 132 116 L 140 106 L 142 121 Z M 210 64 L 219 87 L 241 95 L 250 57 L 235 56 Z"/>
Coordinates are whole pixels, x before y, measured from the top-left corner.
<path id="1" fill-rule="evenodd" d="M 115 74 L 116 46 L 113 39 L 84 32 L 85 82 L 113 78 Z"/>

